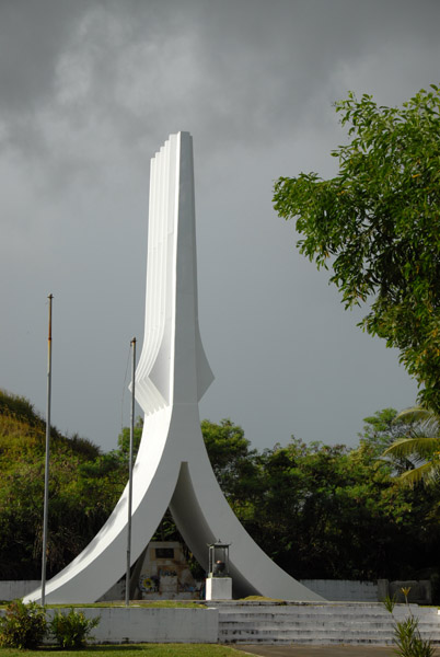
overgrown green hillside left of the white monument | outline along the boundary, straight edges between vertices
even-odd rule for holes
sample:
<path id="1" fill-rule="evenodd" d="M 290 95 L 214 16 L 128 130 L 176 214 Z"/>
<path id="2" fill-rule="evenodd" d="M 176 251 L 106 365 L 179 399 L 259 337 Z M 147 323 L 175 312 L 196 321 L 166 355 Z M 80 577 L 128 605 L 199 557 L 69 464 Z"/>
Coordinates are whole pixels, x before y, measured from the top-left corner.
<path id="1" fill-rule="evenodd" d="M 0 579 L 39 576 L 46 423 L 25 397 L 0 391 Z M 117 451 L 50 430 L 48 575 L 95 535 L 126 482 Z"/>

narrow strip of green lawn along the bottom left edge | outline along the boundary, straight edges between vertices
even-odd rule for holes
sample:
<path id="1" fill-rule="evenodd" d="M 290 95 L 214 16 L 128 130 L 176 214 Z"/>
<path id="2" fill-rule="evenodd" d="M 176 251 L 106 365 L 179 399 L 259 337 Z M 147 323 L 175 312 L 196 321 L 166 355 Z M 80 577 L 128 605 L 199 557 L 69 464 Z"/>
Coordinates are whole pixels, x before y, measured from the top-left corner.
<path id="1" fill-rule="evenodd" d="M 83 650 L 61 650 L 59 648 L 42 648 L 38 650 L 19 650 L 0 648 L 0 657 L 238 657 L 243 656 L 233 648 L 215 644 L 130 644 L 124 646 L 102 645 L 89 646 Z"/>

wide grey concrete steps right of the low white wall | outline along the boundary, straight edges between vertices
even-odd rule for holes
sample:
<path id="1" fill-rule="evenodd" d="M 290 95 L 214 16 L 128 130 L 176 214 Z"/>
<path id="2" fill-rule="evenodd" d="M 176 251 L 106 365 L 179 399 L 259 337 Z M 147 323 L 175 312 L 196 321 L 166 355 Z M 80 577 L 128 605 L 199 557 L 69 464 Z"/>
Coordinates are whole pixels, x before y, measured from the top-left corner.
<path id="1" fill-rule="evenodd" d="M 219 610 L 219 642 L 242 644 L 391 645 L 393 616 L 407 618 L 405 604 L 393 616 L 380 603 L 269 601 L 211 602 Z M 437 608 L 410 606 L 424 638 L 440 645 Z"/>

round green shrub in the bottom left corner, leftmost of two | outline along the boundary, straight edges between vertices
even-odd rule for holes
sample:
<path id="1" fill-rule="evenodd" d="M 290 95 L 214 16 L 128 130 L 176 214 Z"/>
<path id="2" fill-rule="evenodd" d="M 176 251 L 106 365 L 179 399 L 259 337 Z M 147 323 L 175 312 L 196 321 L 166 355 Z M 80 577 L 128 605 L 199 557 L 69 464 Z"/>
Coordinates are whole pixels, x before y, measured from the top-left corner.
<path id="1" fill-rule="evenodd" d="M 0 618 L 0 646 L 5 648 L 36 648 L 46 632 L 46 612 L 36 602 L 13 600 Z"/>

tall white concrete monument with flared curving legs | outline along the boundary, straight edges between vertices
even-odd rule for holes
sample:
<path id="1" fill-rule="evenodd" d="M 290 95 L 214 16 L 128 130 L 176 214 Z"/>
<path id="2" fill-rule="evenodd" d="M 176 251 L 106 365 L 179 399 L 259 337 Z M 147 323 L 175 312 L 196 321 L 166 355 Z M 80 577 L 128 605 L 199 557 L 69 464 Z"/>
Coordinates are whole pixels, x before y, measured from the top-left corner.
<path id="1" fill-rule="evenodd" d="M 144 424 L 132 477 L 131 561 L 170 507 L 205 568 L 208 544 L 231 544 L 235 596 L 322 600 L 258 548 L 217 483 L 198 411 L 212 379 L 198 326 L 193 143 L 188 132 L 178 132 L 151 161 L 146 330 L 136 370 Z M 47 603 L 93 602 L 123 576 L 127 497 L 128 486 L 93 541 L 46 584 Z M 31 599 L 40 599 L 40 590 Z"/>

